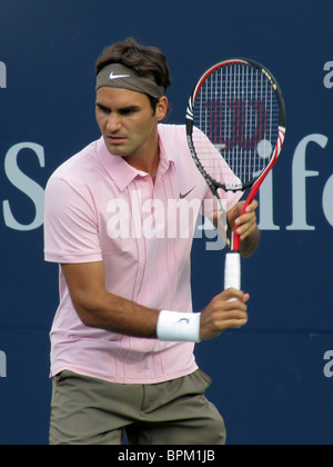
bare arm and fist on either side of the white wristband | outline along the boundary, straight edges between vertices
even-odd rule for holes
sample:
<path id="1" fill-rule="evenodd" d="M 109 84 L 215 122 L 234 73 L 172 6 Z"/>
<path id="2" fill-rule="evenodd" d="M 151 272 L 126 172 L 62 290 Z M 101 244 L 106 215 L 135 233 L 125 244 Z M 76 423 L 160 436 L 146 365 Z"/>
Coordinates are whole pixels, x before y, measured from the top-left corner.
<path id="1" fill-rule="evenodd" d="M 63 264 L 61 268 L 73 306 L 85 326 L 125 336 L 157 338 L 160 310 L 108 292 L 102 261 Z M 248 300 L 248 295 L 233 289 L 214 297 L 201 312 L 200 339 L 212 339 L 226 329 L 244 326 Z"/>

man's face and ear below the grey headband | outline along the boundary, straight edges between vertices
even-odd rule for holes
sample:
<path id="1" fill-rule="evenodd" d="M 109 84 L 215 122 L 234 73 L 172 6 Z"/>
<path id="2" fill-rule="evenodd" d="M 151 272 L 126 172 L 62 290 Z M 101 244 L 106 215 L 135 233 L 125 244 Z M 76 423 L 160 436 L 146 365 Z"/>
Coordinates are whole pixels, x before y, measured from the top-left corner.
<path id="1" fill-rule="evenodd" d="M 145 95 L 127 89 L 100 88 L 97 91 L 95 117 L 108 150 L 114 156 L 140 157 L 155 149 L 157 125 L 168 105 L 161 98 L 153 112 Z M 164 111 L 165 107 L 165 111 Z"/>

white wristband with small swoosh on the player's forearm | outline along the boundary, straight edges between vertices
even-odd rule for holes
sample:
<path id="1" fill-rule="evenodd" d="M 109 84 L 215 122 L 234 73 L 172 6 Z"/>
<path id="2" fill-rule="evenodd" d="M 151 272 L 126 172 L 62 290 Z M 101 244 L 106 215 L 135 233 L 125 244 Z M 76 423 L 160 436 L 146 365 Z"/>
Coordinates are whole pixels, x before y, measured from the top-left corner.
<path id="1" fill-rule="evenodd" d="M 200 342 L 200 312 L 160 311 L 158 338 L 165 341 Z"/>

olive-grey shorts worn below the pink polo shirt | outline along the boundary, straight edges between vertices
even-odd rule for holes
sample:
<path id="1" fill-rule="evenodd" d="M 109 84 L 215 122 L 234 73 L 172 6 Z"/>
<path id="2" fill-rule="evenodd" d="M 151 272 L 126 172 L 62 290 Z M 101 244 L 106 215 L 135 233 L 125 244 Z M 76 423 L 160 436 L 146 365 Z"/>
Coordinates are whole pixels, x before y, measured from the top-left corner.
<path id="1" fill-rule="evenodd" d="M 50 445 L 224 445 L 224 421 L 204 397 L 203 371 L 121 385 L 62 371 L 53 378 Z"/>

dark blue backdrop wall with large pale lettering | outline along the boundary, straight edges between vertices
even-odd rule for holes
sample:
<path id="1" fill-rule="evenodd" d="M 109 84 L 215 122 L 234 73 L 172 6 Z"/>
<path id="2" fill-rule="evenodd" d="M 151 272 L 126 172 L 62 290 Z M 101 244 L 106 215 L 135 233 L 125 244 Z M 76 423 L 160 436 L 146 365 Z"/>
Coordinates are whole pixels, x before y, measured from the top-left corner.
<path id="1" fill-rule="evenodd" d="M 332 17 L 331 0 L 1 1 L 0 444 L 48 443 L 58 270 L 43 262 L 43 188 L 99 137 L 93 64 L 128 36 L 169 57 L 170 122 L 184 121 L 196 78 L 224 58 L 256 59 L 280 81 L 287 137 L 261 202 L 260 250 L 243 262 L 250 324 L 196 356 L 229 444 L 333 441 Z M 223 284 L 224 252 L 209 241 L 194 242 L 196 309 Z"/>

